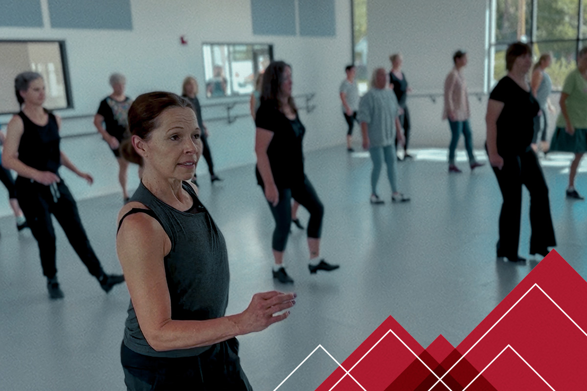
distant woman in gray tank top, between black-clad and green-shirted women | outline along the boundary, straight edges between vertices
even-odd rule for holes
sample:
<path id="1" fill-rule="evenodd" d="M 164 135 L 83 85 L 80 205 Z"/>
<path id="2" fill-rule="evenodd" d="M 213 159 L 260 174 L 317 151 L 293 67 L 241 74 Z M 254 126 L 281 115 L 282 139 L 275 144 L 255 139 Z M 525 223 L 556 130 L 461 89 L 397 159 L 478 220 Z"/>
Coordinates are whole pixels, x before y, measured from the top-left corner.
<path id="1" fill-rule="evenodd" d="M 548 142 L 546 141 L 546 132 L 548 131 L 548 113 L 554 113 L 554 107 L 548 100 L 552 91 L 552 81 L 545 69 L 551 64 L 551 55 L 545 53 L 540 56 L 538 62 L 534 64 L 532 71 L 532 93 L 540 105 L 540 113 L 534 117 L 534 138 L 532 138 L 532 148 L 534 152 L 538 151 L 538 136 L 540 136 L 540 149 L 548 151 Z"/>

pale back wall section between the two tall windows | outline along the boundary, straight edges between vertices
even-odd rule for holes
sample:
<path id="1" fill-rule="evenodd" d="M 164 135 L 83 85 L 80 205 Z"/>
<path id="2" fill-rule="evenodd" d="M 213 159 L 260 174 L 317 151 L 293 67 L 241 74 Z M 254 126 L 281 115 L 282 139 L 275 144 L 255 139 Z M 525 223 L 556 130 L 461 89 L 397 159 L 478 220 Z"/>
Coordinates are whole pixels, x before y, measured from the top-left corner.
<path id="1" fill-rule="evenodd" d="M 453 67 L 453 53 L 467 51 L 464 70 L 470 94 L 485 86 L 485 43 L 488 0 L 368 0 L 369 74 L 376 67 L 390 69 L 389 55 L 403 55 L 403 71 L 413 96 L 408 98 L 412 120 L 410 147 L 448 147 L 450 131 L 441 120 L 442 97 L 433 103 L 419 94 L 442 93 Z M 487 97 L 470 96 L 471 127 L 476 148 L 485 141 Z M 461 138 L 462 140 L 462 138 Z M 461 141 L 461 147 L 462 147 Z"/>

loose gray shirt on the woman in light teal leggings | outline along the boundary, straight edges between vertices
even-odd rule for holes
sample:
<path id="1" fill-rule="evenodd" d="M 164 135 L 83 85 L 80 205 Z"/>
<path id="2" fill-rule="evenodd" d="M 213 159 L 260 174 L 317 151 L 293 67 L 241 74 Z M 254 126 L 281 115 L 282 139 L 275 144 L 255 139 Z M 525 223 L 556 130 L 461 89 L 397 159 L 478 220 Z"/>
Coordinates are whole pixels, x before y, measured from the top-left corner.
<path id="1" fill-rule="evenodd" d="M 357 121 L 369 126 L 371 147 L 387 147 L 396 140 L 396 117 L 399 104 L 396 94 L 390 89 L 372 88 L 360 100 Z"/>

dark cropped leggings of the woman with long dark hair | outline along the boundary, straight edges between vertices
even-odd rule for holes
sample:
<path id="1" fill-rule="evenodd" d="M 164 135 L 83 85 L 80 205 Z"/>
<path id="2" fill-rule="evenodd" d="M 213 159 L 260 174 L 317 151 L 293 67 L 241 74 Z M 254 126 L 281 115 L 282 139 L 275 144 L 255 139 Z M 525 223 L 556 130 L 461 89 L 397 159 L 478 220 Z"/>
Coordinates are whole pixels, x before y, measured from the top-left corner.
<path id="1" fill-rule="evenodd" d="M 291 189 L 279 189 L 279 202 L 276 206 L 269 203 L 269 208 L 271 208 L 271 213 L 275 219 L 272 240 L 272 247 L 275 251 L 284 251 L 288 242 L 289 229 L 292 223 L 292 198 L 310 212 L 308 237 L 319 239 L 322 234 L 324 205 L 318 198 L 312 183 L 304 175 L 303 183 L 300 183 L 299 186 L 292 186 Z"/>

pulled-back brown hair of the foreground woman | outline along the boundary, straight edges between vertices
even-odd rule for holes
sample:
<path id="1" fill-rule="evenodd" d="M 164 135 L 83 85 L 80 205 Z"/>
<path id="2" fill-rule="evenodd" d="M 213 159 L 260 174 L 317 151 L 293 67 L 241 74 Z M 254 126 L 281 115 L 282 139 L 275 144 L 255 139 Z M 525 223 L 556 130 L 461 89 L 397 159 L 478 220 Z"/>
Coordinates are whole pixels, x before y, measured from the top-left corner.
<path id="1" fill-rule="evenodd" d="M 120 144 L 122 157 L 142 166 L 143 158 L 135 151 L 131 136 L 136 135 L 143 140 L 149 140 L 151 132 L 158 126 L 159 115 L 168 108 L 174 107 L 189 107 L 194 110 L 190 101 L 174 93 L 156 91 L 137 97 L 130 106 L 129 128 L 125 132 L 125 140 Z"/>

